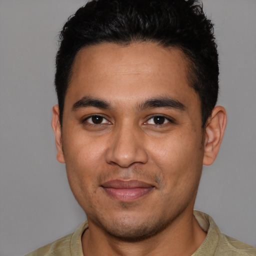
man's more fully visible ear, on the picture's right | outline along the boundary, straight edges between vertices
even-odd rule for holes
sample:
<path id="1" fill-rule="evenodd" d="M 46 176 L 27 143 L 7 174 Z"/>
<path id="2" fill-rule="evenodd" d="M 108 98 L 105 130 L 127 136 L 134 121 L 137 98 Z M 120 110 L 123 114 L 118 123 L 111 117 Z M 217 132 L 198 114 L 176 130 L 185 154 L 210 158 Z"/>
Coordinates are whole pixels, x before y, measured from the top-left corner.
<path id="1" fill-rule="evenodd" d="M 205 128 L 203 164 L 210 165 L 215 160 L 226 127 L 226 111 L 223 106 L 215 106 Z"/>

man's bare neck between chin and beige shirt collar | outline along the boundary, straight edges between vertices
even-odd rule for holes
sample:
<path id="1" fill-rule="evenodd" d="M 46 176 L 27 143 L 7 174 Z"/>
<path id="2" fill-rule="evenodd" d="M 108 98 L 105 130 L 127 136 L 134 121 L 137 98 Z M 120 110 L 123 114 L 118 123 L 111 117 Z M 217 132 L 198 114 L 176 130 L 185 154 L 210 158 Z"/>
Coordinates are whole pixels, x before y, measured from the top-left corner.
<path id="1" fill-rule="evenodd" d="M 192 213 L 180 214 L 164 230 L 142 241 L 127 242 L 112 237 L 88 220 L 82 236 L 84 256 L 191 255 L 203 242 L 206 233 Z"/>

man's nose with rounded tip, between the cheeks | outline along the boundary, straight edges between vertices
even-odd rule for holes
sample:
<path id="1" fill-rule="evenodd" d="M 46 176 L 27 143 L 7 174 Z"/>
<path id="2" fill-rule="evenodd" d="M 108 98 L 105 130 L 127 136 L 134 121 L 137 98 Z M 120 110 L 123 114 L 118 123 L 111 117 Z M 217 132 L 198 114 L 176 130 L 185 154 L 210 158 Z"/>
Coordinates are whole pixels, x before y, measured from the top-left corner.
<path id="1" fill-rule="evenodd" d="M 113 132 L 106 151 L 106 162 L 129 167 L 135 163 L 146 163 L 148 156 L 144 148 L 143 135 L 134 127 L 122 126 Z"/>

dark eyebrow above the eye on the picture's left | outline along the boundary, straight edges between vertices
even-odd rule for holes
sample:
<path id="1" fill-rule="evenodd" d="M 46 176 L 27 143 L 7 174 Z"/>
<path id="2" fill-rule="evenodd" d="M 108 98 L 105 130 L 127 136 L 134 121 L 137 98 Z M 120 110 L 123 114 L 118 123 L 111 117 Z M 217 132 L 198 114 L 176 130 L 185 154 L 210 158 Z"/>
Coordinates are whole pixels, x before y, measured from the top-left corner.
<path id="1" fill-rule="evenodd" d="M 72 110 L 76 111 L 79 108 L 88 107 L 88 106 L 94 106 L 94 107 L 104 108 L 104 109 L 111 108 L 110 104 L 105 100 L 84 96 L 73 104 Z"/>

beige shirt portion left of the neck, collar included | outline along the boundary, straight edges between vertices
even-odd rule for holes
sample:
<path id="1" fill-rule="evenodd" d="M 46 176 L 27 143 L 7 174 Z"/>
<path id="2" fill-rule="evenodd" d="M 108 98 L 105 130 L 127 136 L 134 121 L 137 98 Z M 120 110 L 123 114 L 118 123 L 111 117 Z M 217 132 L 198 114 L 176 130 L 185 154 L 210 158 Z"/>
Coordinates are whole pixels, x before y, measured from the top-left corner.
<path id="1" fill-rule="evenodd" d="M 82 254 L 81 236 L 88 227 L 87 221 L 81 223 L 74 233 L 65 235 L 25 256 L 80 256 Z"/>

